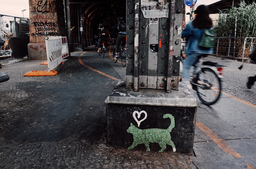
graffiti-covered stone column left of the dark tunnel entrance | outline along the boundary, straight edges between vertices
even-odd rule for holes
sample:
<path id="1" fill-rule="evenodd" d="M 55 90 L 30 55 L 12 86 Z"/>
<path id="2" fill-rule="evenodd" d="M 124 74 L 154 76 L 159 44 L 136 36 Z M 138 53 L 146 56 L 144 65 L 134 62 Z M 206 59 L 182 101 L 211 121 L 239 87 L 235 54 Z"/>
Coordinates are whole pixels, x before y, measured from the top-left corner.
<path id="1" fill-rule="evenodd" d="M 63 0 L 29 0 L 30 60 L 47 59 L 45 37 L 67 36 Z"/>

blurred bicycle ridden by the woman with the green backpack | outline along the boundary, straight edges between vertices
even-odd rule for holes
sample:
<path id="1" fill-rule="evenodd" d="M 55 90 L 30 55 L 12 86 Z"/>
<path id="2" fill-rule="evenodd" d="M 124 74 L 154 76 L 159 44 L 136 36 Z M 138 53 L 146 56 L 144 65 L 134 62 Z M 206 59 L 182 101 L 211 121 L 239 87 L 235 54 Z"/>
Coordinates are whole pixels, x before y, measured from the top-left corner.
<path id="1" fill-rule="evenodd" d="M 198 60 L 206 56 L 206 54 L 202 54 L 198 56 Z M 221 82 L 224 81 L 221 73 L 223 68 L 218 67 L 217 62 L 212 61 L 205 61 L 202 65 L 204 66 L 200 67 L 198 63 L 194 65 L 190 83 L 201 102 L 212 105 L 218 101 L 221 95 Z"/>

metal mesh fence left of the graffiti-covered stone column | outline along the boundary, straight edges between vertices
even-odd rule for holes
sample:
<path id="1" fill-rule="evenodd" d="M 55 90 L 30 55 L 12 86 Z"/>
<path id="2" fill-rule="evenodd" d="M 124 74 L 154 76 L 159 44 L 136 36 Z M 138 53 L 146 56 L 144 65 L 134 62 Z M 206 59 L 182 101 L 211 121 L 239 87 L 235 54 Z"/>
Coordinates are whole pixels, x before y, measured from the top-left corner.
<path id="1" fill-rule="evenodd" d="M 28 18 L 0 14 L 0 35 L 0 62 L 28 55 Z"/>

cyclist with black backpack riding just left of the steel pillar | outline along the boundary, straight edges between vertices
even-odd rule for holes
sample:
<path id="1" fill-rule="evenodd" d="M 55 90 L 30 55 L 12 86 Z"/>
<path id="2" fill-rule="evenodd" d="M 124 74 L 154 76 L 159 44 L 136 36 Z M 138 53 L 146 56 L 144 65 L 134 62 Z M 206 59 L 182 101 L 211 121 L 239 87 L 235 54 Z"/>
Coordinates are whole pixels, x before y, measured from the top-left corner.
<path id="1" fill-rule="evenodd" d="M 114 25 L 113 32 L 111 33 L 110 37 L 113 38 L 115 34 L 117 34 L 116 38 L 116 45 L 115 45 L 115 59 L 118 59 L 118 52 L 119 47 L 122 42 L 122 45 L 124 46 L 124 49 L 126 50 L 126 24 L 123 21 L 123 17 L 117 18 L 118 23 Z"/>

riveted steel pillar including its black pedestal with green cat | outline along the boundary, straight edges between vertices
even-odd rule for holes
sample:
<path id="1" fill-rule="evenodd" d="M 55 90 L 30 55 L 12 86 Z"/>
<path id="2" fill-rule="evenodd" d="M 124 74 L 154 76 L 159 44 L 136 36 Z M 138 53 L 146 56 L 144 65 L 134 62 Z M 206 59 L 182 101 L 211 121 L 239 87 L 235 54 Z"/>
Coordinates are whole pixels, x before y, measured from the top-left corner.
<path id="1" fill-rule="evenodd" d="M 107 144 L 191 154 L 197 104 L 178 80 L 184 1 L 161 3 L 126 0 L 126 82 L 105 100 Z"/>

